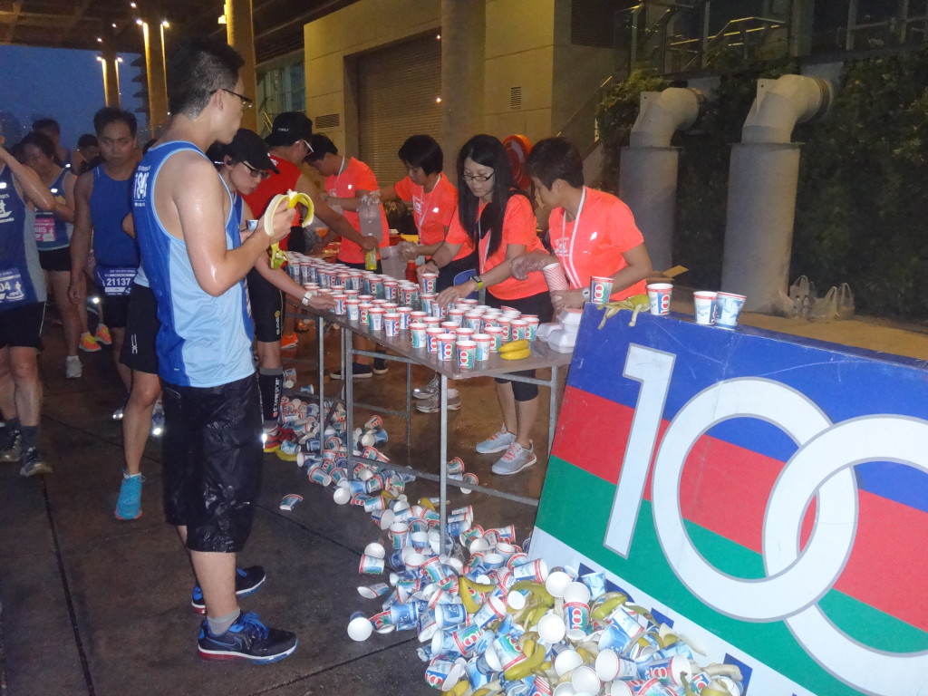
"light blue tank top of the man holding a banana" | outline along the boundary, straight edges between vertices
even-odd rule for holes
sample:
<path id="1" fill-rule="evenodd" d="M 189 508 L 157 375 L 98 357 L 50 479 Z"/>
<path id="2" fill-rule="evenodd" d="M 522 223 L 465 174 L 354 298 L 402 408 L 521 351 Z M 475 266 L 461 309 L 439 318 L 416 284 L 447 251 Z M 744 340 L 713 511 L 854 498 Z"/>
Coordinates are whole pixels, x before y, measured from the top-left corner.
<path id="1" fill-rule="evenodd" d="M 145 275 L 158 301 L 161 379 L 179 386 L 215 387 L 253 374 L 254 331 L 244 279 L 219 297 L 200 288 L 187 244 L 164 229 L 155 211 L 154 191 L 161 166 L 174 153 L 185 150 L 206 158 L 192 143 L 174 141 L 150 148 L 139 163 L 132 189 L 135 235 Z M 241 208 L 234 205 L 231 193 L 229 200 L 226 249 L 235 249 L 241 244 Z"/>

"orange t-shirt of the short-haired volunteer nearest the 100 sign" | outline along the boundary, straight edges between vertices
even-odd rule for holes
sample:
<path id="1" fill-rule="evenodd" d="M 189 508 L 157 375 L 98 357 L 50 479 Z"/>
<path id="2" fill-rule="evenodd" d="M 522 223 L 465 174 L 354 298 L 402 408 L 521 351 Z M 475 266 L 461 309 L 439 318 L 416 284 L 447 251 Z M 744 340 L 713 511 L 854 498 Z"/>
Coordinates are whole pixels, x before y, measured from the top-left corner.
<path id="1" fill-rule="evenodd" d="M 612 276 L 621 271 L 628 265 L 623 256 L 625 251 L 644 243 L 625 203 L 595 188 L 584 187 L 584 192 L 576 220 L 566 222 L 563 208 L 555 208 L 548 217 L 551 248 L 574 290 L 589 287 L 591 276 Z M 643 293 L 645 286 L 645 281 L 639 280 L 628 288 L 615 290 L 610 299 L 624 300 Z"/>

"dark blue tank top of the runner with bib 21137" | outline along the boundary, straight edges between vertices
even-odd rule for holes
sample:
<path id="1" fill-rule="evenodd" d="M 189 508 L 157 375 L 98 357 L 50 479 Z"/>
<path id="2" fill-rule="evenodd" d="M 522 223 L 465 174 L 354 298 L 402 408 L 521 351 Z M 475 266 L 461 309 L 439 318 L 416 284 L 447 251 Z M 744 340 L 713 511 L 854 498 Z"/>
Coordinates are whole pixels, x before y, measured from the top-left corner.
<path id="1" fill-rule="evenodd" d="M 94 225 L 94 258 L 97 265 L 109 268 L 137 268 L 138 247 L 135 239 L 122 230 L 122 219 L 132 210 L 129 187 L 125 181 L 110 178 L 103 165 L 94 169 L 94 191 L 90 194 L 90 219 Z"/>

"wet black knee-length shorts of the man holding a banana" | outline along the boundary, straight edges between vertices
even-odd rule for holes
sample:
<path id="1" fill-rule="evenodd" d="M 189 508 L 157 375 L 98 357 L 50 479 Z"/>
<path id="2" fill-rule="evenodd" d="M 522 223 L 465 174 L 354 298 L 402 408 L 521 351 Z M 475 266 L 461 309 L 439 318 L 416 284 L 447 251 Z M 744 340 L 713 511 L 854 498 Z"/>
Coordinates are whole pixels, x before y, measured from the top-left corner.
<path id="1" fill-rule="evenodd" d="M 237 553 L 261 488 L 258 380 L 217 387 L 164 382 L 164 516 L 187 527 L 191 551 Z"/>

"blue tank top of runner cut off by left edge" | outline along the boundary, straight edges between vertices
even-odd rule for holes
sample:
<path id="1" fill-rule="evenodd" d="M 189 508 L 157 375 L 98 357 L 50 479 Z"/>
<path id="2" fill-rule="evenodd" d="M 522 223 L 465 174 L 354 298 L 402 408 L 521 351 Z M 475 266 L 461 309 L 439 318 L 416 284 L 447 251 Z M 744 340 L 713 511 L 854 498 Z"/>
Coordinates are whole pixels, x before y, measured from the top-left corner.
<path id="1" fill-rule="evenodd" d="M 0 171 L 0 312 L 45 302 L 45 278 L 35 247 L 35 213 L 19 196 L 13 172 Z"/>

